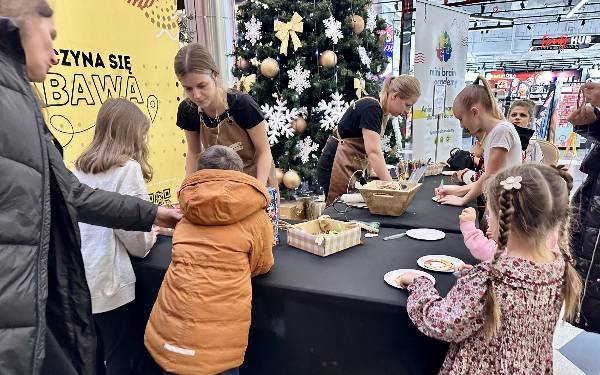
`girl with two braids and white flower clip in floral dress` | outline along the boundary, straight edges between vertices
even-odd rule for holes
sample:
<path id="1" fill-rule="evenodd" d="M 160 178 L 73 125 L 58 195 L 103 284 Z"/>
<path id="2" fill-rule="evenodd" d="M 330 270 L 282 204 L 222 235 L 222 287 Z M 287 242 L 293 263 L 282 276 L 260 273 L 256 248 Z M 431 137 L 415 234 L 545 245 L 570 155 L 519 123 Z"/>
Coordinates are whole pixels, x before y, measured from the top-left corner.
<path id="1" fill-rule="evenodd" d="M 464 276 L 445 298 L 431 281 L 405 273 L 407 310 L 428 336 L 451 342 L 440 374 L 551 374 L 552 335 L 563 303 L 576 315 L 581 279 L 569 241 L 564 170 L 541 164 L 504 169 L 485 187 L 493 259 Z M 558 254 L 546 241 L 559 228 Z"/>

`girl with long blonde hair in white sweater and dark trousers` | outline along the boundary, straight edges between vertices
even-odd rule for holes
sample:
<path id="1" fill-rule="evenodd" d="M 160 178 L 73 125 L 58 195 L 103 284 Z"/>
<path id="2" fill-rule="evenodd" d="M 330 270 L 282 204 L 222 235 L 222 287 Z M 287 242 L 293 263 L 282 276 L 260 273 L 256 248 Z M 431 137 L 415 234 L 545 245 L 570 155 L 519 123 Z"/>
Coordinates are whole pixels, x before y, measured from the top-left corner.
<path id="1" fill-rule="evenodd" d="M 98 112 L 91 145 L 75 162 L 74 174 L 93 188 L 148 199 L 144 180 L 152 178 L 146 136 L 150 121 L 133 103 L 109 99 Z M 145 257 L 156 232 L 128 232 L 79 224 L 81 253 L 92 295 L 92 312 L 106 374 L 131 372 L 132 305 L 135 274 L 129 255 Z M 98 366 L 100 371 L 102 366 Z"/>

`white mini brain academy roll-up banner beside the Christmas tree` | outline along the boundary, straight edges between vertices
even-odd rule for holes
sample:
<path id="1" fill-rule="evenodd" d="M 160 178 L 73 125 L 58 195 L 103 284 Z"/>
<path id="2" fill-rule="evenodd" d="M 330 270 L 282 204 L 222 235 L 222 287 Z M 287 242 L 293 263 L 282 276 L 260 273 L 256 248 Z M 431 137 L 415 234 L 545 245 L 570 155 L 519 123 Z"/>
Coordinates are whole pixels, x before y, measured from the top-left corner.
<path id="1" fill-rule="evenodd" d="M 443 161 L 451 149 L 462 146 L 452 104 L 465 86 L 469 15 L 421 1 L 416 8 L 415 77 L 421 97 L 413 113 L 413 158 L 434 161 L 437 147 L 437 161 Z M 438 118 L 435 107 L 440 103 L 444 110 Z"/>

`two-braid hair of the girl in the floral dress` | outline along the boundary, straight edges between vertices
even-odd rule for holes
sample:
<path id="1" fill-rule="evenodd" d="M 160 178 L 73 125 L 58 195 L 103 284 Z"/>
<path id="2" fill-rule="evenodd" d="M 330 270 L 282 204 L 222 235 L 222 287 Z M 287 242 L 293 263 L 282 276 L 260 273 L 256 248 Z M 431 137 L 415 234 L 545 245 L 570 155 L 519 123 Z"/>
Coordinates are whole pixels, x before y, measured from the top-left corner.
<path id="1" fill-rule="evenodd" d="M 521 176 L 519 190 L 506 190 L 500 182 L 509 176 Z M 500 255 L 506 250 L 509 234 L 514 231 L 533 238 L 539 245 L 549 233 L 559 228 L 558 247 L 565 260 L 563 293 L 565 298 L 564 319 L 572 321 L 577 313 L 577 301 L 581 294 L 581 278 L 569 247 L 569 193 L 573 178 L 562 166 L 524 164 L 498 172 L 485 187 L 485 198 L 490 210 L 499 212 L 498 248 L 490 265 L 490 277 L 485 292 L 485 334 L 493 337 L 500 326 L 500 308 L 494 285 L 502 275 L 496 269 Z"/>

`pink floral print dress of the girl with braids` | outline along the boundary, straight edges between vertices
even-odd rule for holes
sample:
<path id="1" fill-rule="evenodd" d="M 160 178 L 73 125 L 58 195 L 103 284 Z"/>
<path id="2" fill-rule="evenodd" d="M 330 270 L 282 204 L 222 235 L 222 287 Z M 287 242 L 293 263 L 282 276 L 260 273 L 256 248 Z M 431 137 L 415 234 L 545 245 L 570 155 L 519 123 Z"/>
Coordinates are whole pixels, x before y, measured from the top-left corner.
<path id="1" fill-rule="evenodd" d="M 450 342 L 440 374 L 552 374 L 552 335 L 563 303 L 565 262 L 535 264 L 501 256 L 495 286 L 500 328 L 484 333 L 484 294 L 490 263 L 458 279 L 446 298 L 419 277 L 408 287 L 408 315 L 427 336 Z"/>

